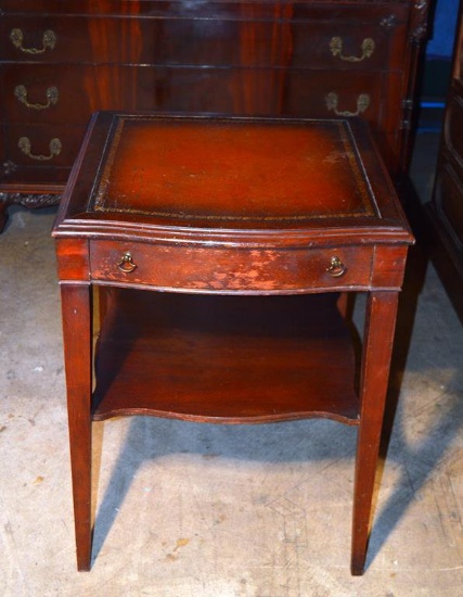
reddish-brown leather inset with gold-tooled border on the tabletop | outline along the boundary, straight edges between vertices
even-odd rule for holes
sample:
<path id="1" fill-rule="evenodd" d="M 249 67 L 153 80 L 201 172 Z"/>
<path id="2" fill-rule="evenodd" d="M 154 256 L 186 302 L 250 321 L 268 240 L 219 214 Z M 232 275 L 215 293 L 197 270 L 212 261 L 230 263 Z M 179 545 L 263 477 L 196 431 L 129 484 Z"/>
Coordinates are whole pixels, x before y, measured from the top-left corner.
<path id="1" fill-rule="evenodd" d="M 376 213 L 350 131 L 334 120 L 121 118 L 92 208 L 234 227 Z"/>

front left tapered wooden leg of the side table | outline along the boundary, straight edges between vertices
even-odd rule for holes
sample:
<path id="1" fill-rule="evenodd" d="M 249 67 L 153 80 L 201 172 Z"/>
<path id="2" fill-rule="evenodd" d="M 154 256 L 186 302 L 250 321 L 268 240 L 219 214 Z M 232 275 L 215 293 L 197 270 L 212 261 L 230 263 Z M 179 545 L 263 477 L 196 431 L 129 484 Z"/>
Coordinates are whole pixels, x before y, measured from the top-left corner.
<path id="1" fill-rule="evenodd" d="M 73 475 L 77 568 L 90 570 L 91 558 L 91 287 L 62 283 L 64 357 Z"/>

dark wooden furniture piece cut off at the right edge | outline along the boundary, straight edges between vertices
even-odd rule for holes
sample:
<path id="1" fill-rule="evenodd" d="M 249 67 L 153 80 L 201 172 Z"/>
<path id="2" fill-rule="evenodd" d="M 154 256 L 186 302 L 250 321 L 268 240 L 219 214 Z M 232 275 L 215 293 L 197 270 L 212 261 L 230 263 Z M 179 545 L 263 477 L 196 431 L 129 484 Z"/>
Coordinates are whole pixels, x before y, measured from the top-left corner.
<path id="1" fill-rule="evenodd" d="M 463 4 L 453 55 L 433 199 L 434 257 L 449 295 L 463 320 Z"/>

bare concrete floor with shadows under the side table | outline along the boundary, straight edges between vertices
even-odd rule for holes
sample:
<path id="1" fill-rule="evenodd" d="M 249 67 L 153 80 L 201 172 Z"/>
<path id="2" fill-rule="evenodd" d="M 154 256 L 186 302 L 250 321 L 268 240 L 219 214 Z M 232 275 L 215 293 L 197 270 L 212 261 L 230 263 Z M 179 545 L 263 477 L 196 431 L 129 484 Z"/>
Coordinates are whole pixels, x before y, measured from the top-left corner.
<path id="1" fill-rule="evenodd" d="M 94 561 L 76 572 L 54 214 L 13 208 L 0 236 L 1 596 L 462 595 L 463 330 L 432 266 L 410 328 L 420 255 L 364 576 L 349 573 L 357 432 L 320 420 L 95 424 Z"/>

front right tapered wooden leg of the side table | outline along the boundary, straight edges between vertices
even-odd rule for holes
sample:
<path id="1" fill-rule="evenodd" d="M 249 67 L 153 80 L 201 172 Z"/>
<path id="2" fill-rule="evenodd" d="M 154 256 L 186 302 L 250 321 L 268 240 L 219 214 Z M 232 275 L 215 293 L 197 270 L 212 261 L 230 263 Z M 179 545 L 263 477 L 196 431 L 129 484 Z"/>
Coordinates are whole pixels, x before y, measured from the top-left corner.
<path id="1" fill-rule="evenodd" d="M 360 378 L 360 425 L 353 495 L 351 572 L 363 573 L 397 315 L 397 292 L 371 292 Z"/>

